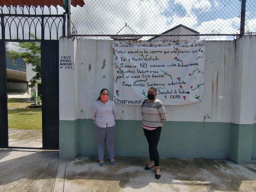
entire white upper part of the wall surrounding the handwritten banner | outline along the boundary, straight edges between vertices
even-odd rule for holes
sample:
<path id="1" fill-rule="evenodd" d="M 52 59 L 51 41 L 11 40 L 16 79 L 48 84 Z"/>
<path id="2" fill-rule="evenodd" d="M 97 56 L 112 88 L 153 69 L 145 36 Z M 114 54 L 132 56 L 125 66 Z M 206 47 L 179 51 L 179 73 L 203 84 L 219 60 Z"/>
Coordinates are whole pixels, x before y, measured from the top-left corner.
<path id="1" fill-rule="evenodd" d="M 253 84 L 256 81 L 252 75 L 255 71 L 253 61 L 256 61 L 256 54 L 252 53 L 256 49 L 254 42 L 256 36 L 247 36 L 236 41 L 206 41 L 202 102 L 165 106 L 167 120 L 251 124 L 255 111 Z M 240 47 L 237 47 L 237 43 L 241 44 Z M 112 41 L 77 40 L 74 45 L 72 39 L 64 38 L 60 39 L 59 47 L 60 56 L 73 54 L 74 57 L 74 70 L 59 71 L 60 120 L 89 119 L 92 105 L 102 88 L 108 88 L 110 98 L 113 98 Z M 240 61 L 237 58 L 242 50 L 245 51 Z M 105 67 L 102 66 L 104 60 Z M 237 65 L 245 69 L 241 72 Z M 117 105 L 117 108 L 117 119 L 141 120 L 140 106 Z M 80 112 L 81 109 L 85 114 Z M 211 118 L 204 119 L 207 114 Z"/>

